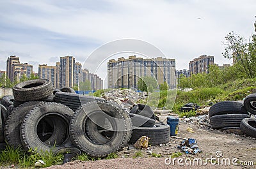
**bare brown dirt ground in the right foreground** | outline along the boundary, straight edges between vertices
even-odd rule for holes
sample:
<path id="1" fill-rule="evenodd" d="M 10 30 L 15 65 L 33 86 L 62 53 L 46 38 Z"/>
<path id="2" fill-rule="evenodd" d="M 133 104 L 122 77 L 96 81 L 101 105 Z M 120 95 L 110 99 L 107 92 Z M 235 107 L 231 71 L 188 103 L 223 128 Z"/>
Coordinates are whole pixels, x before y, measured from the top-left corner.
<path id="1" fill-rule="evenodd" d="M 192 128 L 193 132 L 190 133 L 188 127 Z M 162 158 L 153 158 L 147 149 L 141 150 L 143 152 L 142 158 L 133 158 L 134 153 L 140 150 L 128 150 L 125 147 L 123 151 L 117 152 L 119 156 L 117 159 L 72 161 L 65 165 L 56 165 L 49 168 L 256 168 L 255 138 L 213 130 L 205 125 L 182 121 L 179 123 L 179 133 L 177 136 L 195 138 L 202 152 L 196 155 L 182 152 L 182 156 L 178 157 L 176 161 L 173 162 L 173 159 L 171 159 L 172 163 L 166 165 L 164 161 L 166 161 L 166 158 L 169 158 L 170 154 L 181 152 L 180 149 L 177 149 L 177 145 L 179 145 L 182 139 L 171 138 L 167 144 L 149 148 L 153 153 L 161 154 Z M 198 164 L 196 161 L 194 163 L 193 159 L 195 158 L 202 159 L 203 163 Z M 216 159 L 213 159 L 211 163 L 211 158 Z M 180 163 L 177 162 L 178 159 Z M 228 165 L 228 159 L 230 165 Z M 207 165 L 204 165 L 205 161 L 207 161 Z M 238 165 L 234 165 L 232 161 Z M 170 161 L 167 160 L 166 162 Z M 214 163 L 216 165 L 212 165 Z"/>

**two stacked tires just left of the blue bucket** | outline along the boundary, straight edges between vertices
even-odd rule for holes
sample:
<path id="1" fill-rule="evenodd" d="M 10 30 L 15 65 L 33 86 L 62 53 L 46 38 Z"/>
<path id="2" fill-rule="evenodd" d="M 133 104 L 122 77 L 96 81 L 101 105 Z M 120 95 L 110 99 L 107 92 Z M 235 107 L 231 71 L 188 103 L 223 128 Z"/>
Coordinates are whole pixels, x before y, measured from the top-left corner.
<path id="1" fill-rule="evenodd" d="M 148 136 L 151 145 L 169 142 L 170 126 L 159 121 L 148 105 L 135 105 L 131 108 L 129 116 L 133 126 L 130 143 L 135 143 L 141 136 Z M 156 122 L 156 119 L 159 122 Z"/>

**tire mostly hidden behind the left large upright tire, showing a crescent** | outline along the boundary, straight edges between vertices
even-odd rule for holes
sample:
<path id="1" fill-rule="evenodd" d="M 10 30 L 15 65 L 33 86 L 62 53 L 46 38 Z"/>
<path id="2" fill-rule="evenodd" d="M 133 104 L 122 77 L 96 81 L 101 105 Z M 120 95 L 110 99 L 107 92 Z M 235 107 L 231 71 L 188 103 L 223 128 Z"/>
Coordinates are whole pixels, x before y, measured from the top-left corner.
<path id="1" fill-rule="evenodd" d="M 43 101 L 29 101 L 23 103 L 8 115 L 4 126 L 4 137 L 9 145 L 14 148 L 22 145 L 20 141 L 20 124 L 32 108 L 43 103 Z"/>

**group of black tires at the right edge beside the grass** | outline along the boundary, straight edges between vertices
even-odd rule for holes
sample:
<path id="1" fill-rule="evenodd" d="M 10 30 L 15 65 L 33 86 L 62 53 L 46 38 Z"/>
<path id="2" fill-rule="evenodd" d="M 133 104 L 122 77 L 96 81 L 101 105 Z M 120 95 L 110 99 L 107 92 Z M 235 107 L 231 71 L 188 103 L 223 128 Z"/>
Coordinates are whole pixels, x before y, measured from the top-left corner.
<path id="1" fill-rule="evenodd" d="M 239 133 L 256 137 L 256 120 L 250 118 L 251 114 L 256 114 L 255 103 L 256 94 L 250 94 L 243 103 L 221 101 L 214 104 L 209 110 L 211 127 L 221 130 L 236 129 L 241 131 Z"/>

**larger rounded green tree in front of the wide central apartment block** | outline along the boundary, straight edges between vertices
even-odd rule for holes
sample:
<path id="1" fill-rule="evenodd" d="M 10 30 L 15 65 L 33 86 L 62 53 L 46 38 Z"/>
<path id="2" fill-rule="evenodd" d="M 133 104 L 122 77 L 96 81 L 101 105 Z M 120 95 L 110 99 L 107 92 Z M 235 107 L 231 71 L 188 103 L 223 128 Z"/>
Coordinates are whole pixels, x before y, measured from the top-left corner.
<path id="1" fill-rule="evenodd" d="M 154 77 L 143 77 L 138 80 L 138 89 L 140 91 L 153 92 L 157 87 L 157 80 Z"/>

